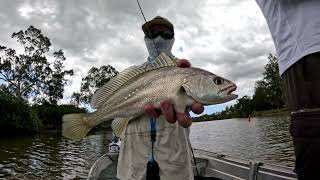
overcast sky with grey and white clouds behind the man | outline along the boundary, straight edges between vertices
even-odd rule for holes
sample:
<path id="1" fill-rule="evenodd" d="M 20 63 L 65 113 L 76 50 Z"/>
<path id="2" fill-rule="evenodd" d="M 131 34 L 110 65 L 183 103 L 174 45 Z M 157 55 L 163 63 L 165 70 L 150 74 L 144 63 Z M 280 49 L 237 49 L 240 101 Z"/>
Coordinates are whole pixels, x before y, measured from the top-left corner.
<path id="1" fill-rule="evenodd" d="M 81 78 L 93 67 L 110 64 L 118 71 L 146 61 L 135 0 L 0 0 L 0 45 L 19 48 L 13 32 L 30 25 L 51 40 L 53 51 L 62 49 L 65 66 L 74 69 L 62 103 L 80 88 Z M 175 27 L 173 54 L 189 59 L 194 67 L 228 78 L 239 97 L 252 95 L 262 78 L 269 53 L 275 53 L 266 21 L 255 0 L 170 1 L 140 0 L 147 20 L 169 19 Z M 219 111 L 235 100 L 206 108 Z"/>

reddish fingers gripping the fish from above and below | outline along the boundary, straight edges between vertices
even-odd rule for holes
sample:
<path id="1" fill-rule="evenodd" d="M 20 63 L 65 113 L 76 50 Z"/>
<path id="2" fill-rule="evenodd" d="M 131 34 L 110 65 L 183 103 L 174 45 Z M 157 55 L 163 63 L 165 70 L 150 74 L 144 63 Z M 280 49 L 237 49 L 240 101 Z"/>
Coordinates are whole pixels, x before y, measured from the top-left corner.
<path id="1" fill-rule="evenodd" d="M 186 59 L 180 59 L 177 61 L 177 66 L 181 68 L 189 68 L 191 64 Z M 189 110 L 195 114 L 201 114 L 204 110 L 204 107 L 201 103 L 195 102 L 192 106 L 185 110 L 185 112 L 176 112 L 173 104 L 169 99 L 163 100 L 160 103 L 160 108 L 156 108 L 151 104 L 148 104 L 144 107 L 144 111 L 150 117 L 158 118 L 161 114 L 169 123 L 178 123 L 184 127 L 190 127 L 192 124 L 191 117 L 189 115 Z"/>

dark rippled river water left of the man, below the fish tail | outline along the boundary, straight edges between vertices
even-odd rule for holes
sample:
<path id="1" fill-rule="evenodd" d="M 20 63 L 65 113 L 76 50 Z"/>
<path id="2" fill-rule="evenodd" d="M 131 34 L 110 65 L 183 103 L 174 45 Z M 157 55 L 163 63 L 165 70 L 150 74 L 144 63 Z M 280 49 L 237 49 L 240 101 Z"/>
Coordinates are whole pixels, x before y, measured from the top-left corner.
<path id="1" fill-rule="evenodd" d="M 111 132 L 91 135 L 81 141 L 61 133 L 0 139 L 0 179 L 84 179 L 90 166 L 107 152 Z"/>

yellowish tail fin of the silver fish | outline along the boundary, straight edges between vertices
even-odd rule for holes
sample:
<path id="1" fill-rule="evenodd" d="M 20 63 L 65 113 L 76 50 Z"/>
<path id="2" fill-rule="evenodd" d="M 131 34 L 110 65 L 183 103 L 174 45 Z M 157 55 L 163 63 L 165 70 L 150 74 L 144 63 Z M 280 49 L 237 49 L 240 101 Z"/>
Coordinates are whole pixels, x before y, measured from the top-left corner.
<path id="1" fill-rule="evenodd" d="M 62 117 L 62 135 L 72 140 L 84 138 L 94 127 L 92 114 L 67 114 Z"/>

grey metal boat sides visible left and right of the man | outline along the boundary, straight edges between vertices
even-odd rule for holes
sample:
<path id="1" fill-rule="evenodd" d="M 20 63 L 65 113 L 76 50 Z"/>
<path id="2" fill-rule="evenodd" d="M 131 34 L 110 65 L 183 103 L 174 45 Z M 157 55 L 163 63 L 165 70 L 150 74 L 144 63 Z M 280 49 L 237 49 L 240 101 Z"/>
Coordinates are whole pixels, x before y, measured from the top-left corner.
<path id="1" fill-rule="evenodd" d="M 194 174 L 205 179 L 223 180 L 295 180 L 293 168 L 239 158 L 195 149 Z M 117 179 L 118 154 L 107 153 L 91 167 L 88 180 Z"/>

